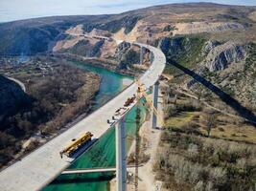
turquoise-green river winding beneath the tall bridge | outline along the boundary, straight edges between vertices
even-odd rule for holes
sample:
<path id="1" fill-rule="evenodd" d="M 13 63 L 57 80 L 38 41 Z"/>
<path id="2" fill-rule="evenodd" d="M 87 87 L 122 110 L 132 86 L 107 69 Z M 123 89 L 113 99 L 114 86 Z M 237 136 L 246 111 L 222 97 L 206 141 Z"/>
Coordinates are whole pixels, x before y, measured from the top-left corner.
<path id="1" fill-rule="evenodd" d="M 103 105 L 107 100 L 116 96 L 124 90 L 131 82 L 131 77 L 116 74 L 103 68 L 84 65 L 80 62 L 75 63 L 79 68 L 99 74 L 102 78 L 100 91 L 95 97 L 94 110 Z M 146 108 L 143 104 L 141 109 L 141 123 L 146 118 Z M 133 109 L 126 117 L 127 150 L 130 147 L 131 139 L 135 136 L 135 110 Z M 115 129 L 109 129 L 105 135 L 78 159 L 69 168 L 88 168 L 88 167 L 113 167 L 115 166 Z M 113 179 L 113 173 L 91 173 L 84 175 L 61 175 L 52 181 L 43 191 L 107 191 L 109 180 Z"/>

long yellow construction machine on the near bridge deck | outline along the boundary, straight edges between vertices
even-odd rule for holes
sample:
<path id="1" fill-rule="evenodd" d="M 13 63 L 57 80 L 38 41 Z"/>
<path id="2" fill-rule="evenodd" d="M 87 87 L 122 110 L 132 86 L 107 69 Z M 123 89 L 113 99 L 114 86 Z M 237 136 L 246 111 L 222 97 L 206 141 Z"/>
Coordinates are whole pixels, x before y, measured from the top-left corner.
<path id="1" fill-rule="evenodd" d="M 71 157 L 83 144 L 87 143 L 93 137 L 91 132 L 86 132 L 81 138 L 72 139 L 71 142 L 64 150 L 59 152 L 60 157 L 62 158 L 63 155 L 67 157 Z"/>

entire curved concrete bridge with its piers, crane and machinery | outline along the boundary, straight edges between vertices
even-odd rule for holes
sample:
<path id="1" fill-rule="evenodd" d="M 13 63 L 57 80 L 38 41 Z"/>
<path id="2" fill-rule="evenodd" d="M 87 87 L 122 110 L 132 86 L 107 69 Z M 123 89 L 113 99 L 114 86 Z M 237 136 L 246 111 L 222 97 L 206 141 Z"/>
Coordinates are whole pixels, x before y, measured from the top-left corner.
<path id="1" fill-rule="evenodd" d="M 122 42 L 122 40 L 116 40 L 104 36 L 90 37 L 110 41 L 115 40 L 117 43 Z M 96 110 L 90 116 L 85 117 L 80 122 L 75 124 L 74 127 L 68 129 L 57 138 L 47 142 L 25 159 L 14 163 L 12 166 L 2 171 L 0 174 L 1 190 L 20 190 L 21 187 L 22 190 L 26 191 L 41 189 L 50 181 L 54 180 L 59 173 L 63 175 L 79 175 L 88 172 L 99 173 L 114 171 L 116 177 L 115 190 L 125 191 L 128 190 L 128 177 L 130 178 L 131 173 L 128 173 L 128 169 L 134 171 L 131 173 L 134 177 L 132 181 L 134 182 L 133 184 L 135 190 L 139 190 L 139 156 L 141 153 L 141 143 L 143 142 L 139 135 L 141 126 L 141 111 L 139 104 L 143 102 L 142 104 L 146 106 L 148 108 L 147 110 L 151 113 L 151 121 L 148 128 L 151 129 L 151 131 L 156 129 L 159 131 L 163 124 L 163 120 L 157 110 L 159 86 L 158 80 L 164 70 L 166 61 L 164 54 L 159 49 L 136 42 L 132 42 L 132 44 L 140 47 L 141 50 L 147 49 L 151 52 L 150 69 L 139 79 L 135 79 L 135 81 L 122 93 L 108 101 L 104 106 Z M 144 51 L 141 51 L 141 53 L 144 53 Z M 144 56 L 141 55 L 140 58 L 143 59 Z M 143 61 L 141 60 L 141 63 L 142 62 Z M 151 96 L 149 94 L 151 94 Z M 126 146 L 126 116 L 133 108 L 135 108 L 136 114 L 135 118 L 133 118 L 136 127 L 135 138 L 133 141 L 134 143 L 132 143 L 134 146 L 131 146 L 130 152 L 133 147 L 134 162 L 128 166 L 128 151 Z M 89 127 L 97 127 L 97 129 Z M 116 162 L 114 167 L 65 170 L 65 168 L 70 166 L 70 164 L 75 161 L 81 155 L 81 153 L 86 153 L 87 150 L 93 147 L 93 143 L 97 142 L 97 139 L 101 138 L 106 131 L 113 128 L 115 129 L 116 142 Z M 55 149 L 53 150 L 47 148 Z M 40 156 L 44 156 L 44 158 L 42 159 Z M 45 156 L 48 157 L 45 158 Z M 25 166 L 29 166 L 29 169 L 25 170 Z M 9 179 L 13 173 L 15 174 L 14 177 L 16 179 L 16 184 L 6 184 L 7 181 L 5 180 Z M 37 178 L 35 181 L 26 184 L 26 186 L 20 186 L 21 184 L 23 185 L 24 181 L 26 181 L 24 179 L 30 178 L 17 176 L 16 173 L 27 173 L 28 175 L 34 174 Z M 157 190 L 157 188 L 155 189 Z"/>

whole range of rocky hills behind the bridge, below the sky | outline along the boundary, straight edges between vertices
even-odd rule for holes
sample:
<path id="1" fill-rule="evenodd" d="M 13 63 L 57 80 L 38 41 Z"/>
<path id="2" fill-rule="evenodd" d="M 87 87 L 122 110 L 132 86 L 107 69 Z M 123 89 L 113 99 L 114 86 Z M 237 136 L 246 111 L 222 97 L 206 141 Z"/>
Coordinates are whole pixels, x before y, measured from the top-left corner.
<path id="1" fill-rule="evenodd" d="M 189 3 L 112 15 L 46 17 L 4 23 L 0 24 L 0 54 L 70 53 L 107 59 L 115 63 L 116 69 L 128 69 L 139 62 L 138 49 L 81 34 L 136 40 L 159 45 L 170 63 L 198 72 L 244 101 L 244 96 L 235 90 L 240 83 L 231 80 L 234 84 L 231 85 L 225 81 L 230 77 L 241 83 L 245 80 L 236 74 L 244 72 L 250 54 L 248 45 L 256 41 L 255 11 L 255 7 Z M 145 58 L 148 60 L 149 55 Z M 174 67 L 167 67 L 166 72 L 180 74 Z M 253 74 L 248 74 L 249 81 Z M 187 84 L 192 87 L 194 83 Z M 246 97 L 253 96 L 254 90 L 249 92 Z"/>

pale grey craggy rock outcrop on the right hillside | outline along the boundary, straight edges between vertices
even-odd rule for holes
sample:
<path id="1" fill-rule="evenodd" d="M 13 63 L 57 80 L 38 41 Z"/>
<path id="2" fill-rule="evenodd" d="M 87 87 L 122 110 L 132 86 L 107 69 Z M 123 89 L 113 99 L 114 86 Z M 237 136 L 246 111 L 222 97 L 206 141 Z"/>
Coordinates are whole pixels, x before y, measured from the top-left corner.
<path id="1" fill-rule="evenodd" d="M 204 63 L 210 72 L 221 71 L 233 62 L 244 60 L 245 54 L 243 45 L 226 42 L 212 49 L 208 53 Z"/>

